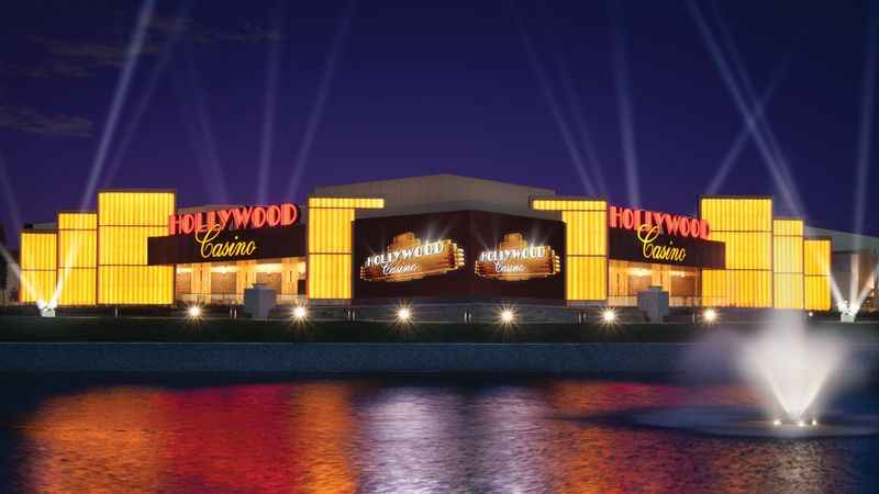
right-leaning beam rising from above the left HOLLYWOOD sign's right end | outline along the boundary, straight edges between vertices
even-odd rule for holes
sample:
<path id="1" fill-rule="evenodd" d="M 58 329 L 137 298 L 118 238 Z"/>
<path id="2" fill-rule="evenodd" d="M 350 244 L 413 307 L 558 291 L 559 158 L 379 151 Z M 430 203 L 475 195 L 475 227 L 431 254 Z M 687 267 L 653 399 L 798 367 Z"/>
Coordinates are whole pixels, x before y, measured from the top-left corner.
<path id="1" fill-rule="evenodd" d="M 311 108 L 309 120 L 305 124 L 305 132 L 302 136 L 299 150 L 297 151 L 293 160 L 293 170 L 290 176 L 290 181 L 287 184 L 287 198 L 294 200 L 296 193 L 299 190 L 299 180 L 304 171 L 303 168 L 308 164 L 311 156 L 311 148 L 314 145 L 314 136 L 318 133 L 318 126 L 323 117 L 323 110 L 326 105 L 326 99 L 330 96 L 330 89 L 335 76 L 336 65 L 338 57 L 342 53 L 342 47 L 345 40 L 348 37 L 351 24 L 357 13 L 357 1 L 349 0 L 345 9 L 342 11 L 336 31 L 330 43 L 330 50 L 326 54 L 326 61 L 324 64 L 323 72 L 321 75 L 320 83 L 318 86 L 318 94 L 314 98 L 314 105 Z"/>

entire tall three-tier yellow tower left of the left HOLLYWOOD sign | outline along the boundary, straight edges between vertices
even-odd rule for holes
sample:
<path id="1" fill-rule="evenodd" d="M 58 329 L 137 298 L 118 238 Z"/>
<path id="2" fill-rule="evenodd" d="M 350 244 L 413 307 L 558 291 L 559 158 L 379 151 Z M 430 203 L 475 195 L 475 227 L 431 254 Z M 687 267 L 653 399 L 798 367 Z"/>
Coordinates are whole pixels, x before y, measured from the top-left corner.
<path id="1" fill-rule="evenodd" d="M 98 193 L 98 303 L 174 302 L 174 267 L 146 266 L 146 239 L 166 235 L 175 212 L 171 191 Z"/>

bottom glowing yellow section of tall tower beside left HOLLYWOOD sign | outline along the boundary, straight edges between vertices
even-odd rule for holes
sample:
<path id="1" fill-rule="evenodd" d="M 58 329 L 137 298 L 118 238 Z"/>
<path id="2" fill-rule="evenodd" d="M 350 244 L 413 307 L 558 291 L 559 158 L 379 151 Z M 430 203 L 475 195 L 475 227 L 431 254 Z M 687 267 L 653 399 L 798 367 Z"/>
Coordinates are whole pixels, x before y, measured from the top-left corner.
<path id="1" fill-rule="evenodd" d="M 173 266 L 102 266 L 98 295 L 103 304 L 170 304 Z"/>

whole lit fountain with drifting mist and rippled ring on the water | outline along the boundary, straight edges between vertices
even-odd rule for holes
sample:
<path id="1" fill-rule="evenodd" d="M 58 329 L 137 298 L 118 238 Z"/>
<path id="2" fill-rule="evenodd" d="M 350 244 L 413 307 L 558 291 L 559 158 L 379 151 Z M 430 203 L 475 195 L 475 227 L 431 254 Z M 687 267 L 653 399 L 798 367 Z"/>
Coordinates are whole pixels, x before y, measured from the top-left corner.
<path id="1" fill-rule="evenodd" d="M 842 337 L 810 330 L 801 314 L 775 315 L 757 334 L 713 330 L 696 346 L 692 373 L 723 367 L 758 397 L 757 406 L 694 405 L 634 411 L 631 422 L 722 436 L 814 438 L 879 434 L 879 418 L 827 407 L 858 362 Z M 692 362 L 690 362 L 692 363 Z M 725 363 L 725 364 L 724 364 Z M 845 363 L 845 366 L 843 366 Z"/>

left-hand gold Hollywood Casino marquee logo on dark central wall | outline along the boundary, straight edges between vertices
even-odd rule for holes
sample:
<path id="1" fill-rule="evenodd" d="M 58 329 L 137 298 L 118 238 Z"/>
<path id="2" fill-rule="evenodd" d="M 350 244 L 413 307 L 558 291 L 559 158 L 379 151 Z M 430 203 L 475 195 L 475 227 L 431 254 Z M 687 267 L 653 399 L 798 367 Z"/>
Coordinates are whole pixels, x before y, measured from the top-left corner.
<path id="1" fill-rule="evenodd" d="M 393 237 L 383 254 L 360 267 L 365 281 L 410 281 L 445 274 L 464 266 L 464 249 L 449 239 L 422 243 L 412 232 Z"/>

